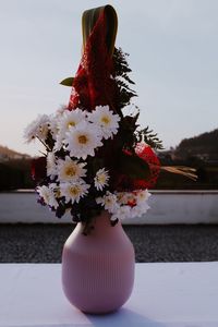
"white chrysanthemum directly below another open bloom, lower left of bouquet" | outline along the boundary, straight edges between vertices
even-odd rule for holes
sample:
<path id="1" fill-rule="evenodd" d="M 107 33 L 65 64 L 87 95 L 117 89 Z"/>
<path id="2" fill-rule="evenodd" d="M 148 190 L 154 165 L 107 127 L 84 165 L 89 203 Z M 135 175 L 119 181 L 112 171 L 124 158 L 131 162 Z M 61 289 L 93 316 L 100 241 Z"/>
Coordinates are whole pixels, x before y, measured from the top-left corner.
<path id="1" fill-rule="evenodd" d="M 61 195 L 65 196 L 66 202 L 78 203 L 81 197 L 85 196 L 88 193 L 89 185 L 84 182 L 76 183 L 61 183 L 60 191 Z"/>

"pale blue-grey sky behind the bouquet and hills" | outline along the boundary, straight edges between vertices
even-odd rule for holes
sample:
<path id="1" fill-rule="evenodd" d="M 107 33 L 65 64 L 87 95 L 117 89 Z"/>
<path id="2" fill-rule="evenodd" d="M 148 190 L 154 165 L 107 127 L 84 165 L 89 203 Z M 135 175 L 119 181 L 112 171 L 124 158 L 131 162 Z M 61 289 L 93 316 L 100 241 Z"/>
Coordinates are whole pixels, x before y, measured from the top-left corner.
<path id="1" fill-rule="evenodd" d="M 105 4 L 118 13 L 142 128 L 166 149 L 218 128 L 218 1 L 0 0 L 0 145 L 39 154 L 24 129 L 68 104 L 59 82 L 77 70 L 82 13 Z"/>

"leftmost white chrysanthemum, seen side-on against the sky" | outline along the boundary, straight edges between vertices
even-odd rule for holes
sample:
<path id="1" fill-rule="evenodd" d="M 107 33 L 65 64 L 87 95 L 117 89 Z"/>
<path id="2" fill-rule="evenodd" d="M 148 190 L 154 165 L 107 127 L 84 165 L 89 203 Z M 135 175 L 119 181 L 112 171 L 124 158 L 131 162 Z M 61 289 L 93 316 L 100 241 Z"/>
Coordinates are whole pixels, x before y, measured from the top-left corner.
<path id="1" fill-rule="evenodd" d="M 26 126 L 24 130 L 24 138 L 27 143 L 35 138 L 45 142 L 49 132 L 50 118 L 47 114 L 39 114 L 36 120 Z"/>

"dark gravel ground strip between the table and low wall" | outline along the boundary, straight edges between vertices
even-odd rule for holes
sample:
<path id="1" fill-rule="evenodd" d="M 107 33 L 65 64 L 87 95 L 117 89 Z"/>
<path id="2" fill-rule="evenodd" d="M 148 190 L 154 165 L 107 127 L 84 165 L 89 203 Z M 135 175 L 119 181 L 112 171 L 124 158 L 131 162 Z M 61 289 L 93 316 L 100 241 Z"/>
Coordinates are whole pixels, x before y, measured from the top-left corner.
<path id="1" fill-rule="evenodd" d="M 0 225 L 1 263 L 60 263 L 72 225 Z M 218 225 L 124 226 L 137 263 L 218 261 Z"/>

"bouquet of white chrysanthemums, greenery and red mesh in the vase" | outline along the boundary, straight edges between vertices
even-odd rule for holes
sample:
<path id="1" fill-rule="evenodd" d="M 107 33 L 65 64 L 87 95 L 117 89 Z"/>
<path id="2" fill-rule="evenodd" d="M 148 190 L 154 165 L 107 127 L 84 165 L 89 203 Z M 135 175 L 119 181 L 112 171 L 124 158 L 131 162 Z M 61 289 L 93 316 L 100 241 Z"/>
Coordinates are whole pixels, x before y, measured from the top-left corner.
<path id="1" fill-rule="evenodd" d="M 44 157 L 33 162 L 38 202 L 59 218 L 70 211 L 85 234 L 101 210 L 109 211 L 111 226 L 145 214 L 147 189 L 160 169 L 154 148 L 161 148 L 161 142 L 137 124 L 128 55 L 114 48 L 114 33 L 106 38 L 106 27 L 99 15 L 85 38 L 75 77 L 61 82 L 72 86 L 70 104 L 39 116 L 25 130 L 27 142 L 37 138 L 45 146 Z M 130 105 L 135 112 L 125 114 Z"/>

